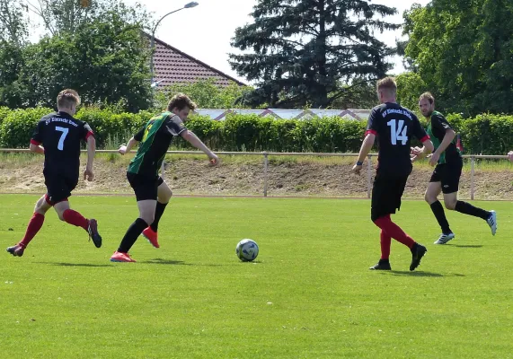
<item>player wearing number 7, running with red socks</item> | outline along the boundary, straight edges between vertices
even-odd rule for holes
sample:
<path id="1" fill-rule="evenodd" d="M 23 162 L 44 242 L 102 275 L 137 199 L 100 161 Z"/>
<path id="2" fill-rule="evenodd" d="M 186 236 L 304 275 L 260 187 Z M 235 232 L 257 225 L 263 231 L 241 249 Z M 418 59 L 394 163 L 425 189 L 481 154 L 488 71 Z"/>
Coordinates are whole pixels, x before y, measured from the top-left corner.
<path id="1" fill-rule="evenodd" d="M 19 243 L 7 248 L 14 257 L 22 257 L 34 236 L 40 231 L 47 211 L 54 207 L 58 218 L 66 223 L 84 228 L 97 248 L 102 247 L 95 219 L 86 219 L 69 206 L 67 197 L 78 184 L 80 172 L 80 145 L 87 144 L 87 164 L 84 180 L 93 180 L 93 158 L 96 142 L 93 130 L 87 123 L 73 117 L 80 97 L 75 90 L 66 89 L 57 95 L 57 112 L 40 119 L 31 138 L 30 149 L 45 156 L 43 175 L 47 193 L 36 203 L 34 215 Z M 42 144 L 42 146 L 41 146 Z"/>

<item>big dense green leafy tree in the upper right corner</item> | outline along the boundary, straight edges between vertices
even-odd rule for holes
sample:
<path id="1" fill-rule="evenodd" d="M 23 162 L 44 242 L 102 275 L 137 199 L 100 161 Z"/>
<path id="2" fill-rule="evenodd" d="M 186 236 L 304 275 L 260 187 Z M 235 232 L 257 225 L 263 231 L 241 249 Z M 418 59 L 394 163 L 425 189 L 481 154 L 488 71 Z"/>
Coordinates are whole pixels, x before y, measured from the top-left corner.
<path id="1" fill-rule="evenodd" d="M 405 56 L 440 109 L 513 112 L 513 3 L 433 0 L 404 13 Z"/>

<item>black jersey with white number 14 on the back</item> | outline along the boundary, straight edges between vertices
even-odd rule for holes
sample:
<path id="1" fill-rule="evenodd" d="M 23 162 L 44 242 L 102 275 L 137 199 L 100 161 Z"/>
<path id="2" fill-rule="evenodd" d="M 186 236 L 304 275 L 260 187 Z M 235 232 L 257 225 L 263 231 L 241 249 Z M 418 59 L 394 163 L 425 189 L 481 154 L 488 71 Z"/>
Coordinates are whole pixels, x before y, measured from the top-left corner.
<path id="1" fill-rule="evenodd" d="M 411 173 L 411 137 L 420 142 L 429 139 L 419 118 L 397 103 L 386 102 L 372 109 L 367 132 L 377 137 L 380 173 L 403 176 Z"/>

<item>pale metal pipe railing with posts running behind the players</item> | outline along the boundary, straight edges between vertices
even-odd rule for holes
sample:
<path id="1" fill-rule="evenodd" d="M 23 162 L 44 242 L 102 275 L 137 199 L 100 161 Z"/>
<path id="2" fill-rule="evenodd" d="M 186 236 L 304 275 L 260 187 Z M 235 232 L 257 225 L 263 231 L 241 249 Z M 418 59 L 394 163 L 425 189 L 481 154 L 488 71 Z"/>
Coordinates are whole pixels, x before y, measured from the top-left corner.
<path id="1" fill-rule="evenodd" d="M 13 149 L 13 148 L 0 148 L 0 153 L 27 153 L 29 149 Z M 87 153 L 86 150 L 82 150 Z M 97 150 L 96 153 L 118 153 L 117 150 Z M 199 151 L 168 151 L 168 154 L 204 154 Z M 218 155 L 241 155 L 241 156 L 262 156 L 262 171 L 263 171 L 263 188 L 262 196 L 268 197 L 268 171 L 269 171 L 269 157 L 270 156 L 317 156 L 317 157 L 358 157 L 358 153 L 279 153 L 279 152 L 216 152 Z M 507 155 L 464 155 L 464 158 L 470 159 L 470 198 L 474 199 L 475 193 L 475 160 L 476 159 L 494 159 L 494 160 L 507 160 Z M 372 190 L 372 173 L 374 171 L 373 159 L 377 158 L 377 153 L 369 153 L 367 155 L 367 198 L 370 198 Z M 161 169 L 164 172 L 163 168 Z"/>

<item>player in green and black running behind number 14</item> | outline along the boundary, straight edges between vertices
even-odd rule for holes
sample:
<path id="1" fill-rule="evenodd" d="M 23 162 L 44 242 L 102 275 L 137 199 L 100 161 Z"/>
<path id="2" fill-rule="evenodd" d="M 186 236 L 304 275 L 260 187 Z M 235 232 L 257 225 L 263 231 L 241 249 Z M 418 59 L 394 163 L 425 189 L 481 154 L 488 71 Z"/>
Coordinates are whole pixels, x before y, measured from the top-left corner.
<path id="1" fill-rule="evenodd" d="M 438 201 L 440 193 L 444 196 L 444 204 L 448 210 L 456 210 L 464 215 L 482 218 L 490 226 L 491 234 L 495 235 L 497 232 L 495 211 L 486 211 L 468 202 L 458 200 L 463 158 L 456 145 L 455 130 L 449 125 L 447 119 L 435 110 L 435 98 L 430 92 L 420 95 L 419 108 L 422 115 L 428 118 L 428 135 L 435 146 L 435 152 L 429 158 L 429 164 L 436 165 L 436 167 L 424 196 L 442 231 L 435 244 L 446 244 L 455 238 L 455 233 L 449 227 L 444 207 Z M 417 147 L 411 148 L 413 154 L 419 151 L 420 149 Z"/>

